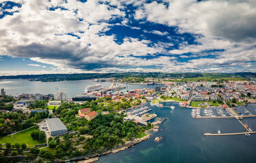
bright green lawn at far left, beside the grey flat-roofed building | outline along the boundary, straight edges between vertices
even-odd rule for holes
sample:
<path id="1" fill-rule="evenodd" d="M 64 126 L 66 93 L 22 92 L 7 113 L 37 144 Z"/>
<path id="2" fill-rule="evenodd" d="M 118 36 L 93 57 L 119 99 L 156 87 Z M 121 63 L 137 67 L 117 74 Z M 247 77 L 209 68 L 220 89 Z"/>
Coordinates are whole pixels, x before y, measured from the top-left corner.
<path id="1" fill-rule="evenodd" d="M 26 143 L 27 147 L 33 147 L 34 145 L 37 144 L 43 144 L 46 143 L 46 140 L 44 141 L 34 141 L 32 139 L 32 137 L 30 136 L 31 132 L 34 130 L 35 128 L 29 128 L 29 130 L 25 130 L 23 132 L 18 132 L 17 134 L 13 134 L 12 136 L 8 136 L 8 137 L 0 137 L 0 143 L 5 143 L 5 142 L 10 142 L 12 144 L 17 143 Z M 13 138 L 13 139 L 12 139 Z M 15 141 L 16 142 L 15 142 Z"/>

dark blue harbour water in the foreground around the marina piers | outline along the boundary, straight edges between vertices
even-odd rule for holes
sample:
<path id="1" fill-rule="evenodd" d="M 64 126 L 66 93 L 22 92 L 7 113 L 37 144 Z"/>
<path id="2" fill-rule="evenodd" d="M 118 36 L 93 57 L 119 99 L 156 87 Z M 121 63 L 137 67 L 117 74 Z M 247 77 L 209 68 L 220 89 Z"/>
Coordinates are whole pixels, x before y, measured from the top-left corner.
<path id="1" fill-rule="evenodd" d="M 191 109 L 183 109 L 178 103 L 164 105 L 175 106 L 173 113 L 170 108 L 158 109 L 147 103 L 152 112 L 166 119 L 159 132 L 134 147 L 101 156 L 99 162 L 255 162 L 256 134 L 251 134 L 251 137 L 203 136 L 205 132 L 217 133 L 218 126 L 221 126 L 222 133 L 245 131 L 237 120 L 193 119 Z M 246 108 L 256 114 L 256 107 L 248 105 Z M 246 120 L 252 130 L 256 130 L 256 118 Z M 163 139 L 156 143 L 156 137 Z"/>

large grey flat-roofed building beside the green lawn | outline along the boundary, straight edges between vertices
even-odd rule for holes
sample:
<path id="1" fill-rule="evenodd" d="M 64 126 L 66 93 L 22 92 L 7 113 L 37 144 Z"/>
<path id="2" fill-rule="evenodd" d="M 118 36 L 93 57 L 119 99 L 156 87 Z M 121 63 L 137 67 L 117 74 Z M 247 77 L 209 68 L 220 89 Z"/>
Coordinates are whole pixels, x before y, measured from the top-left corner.
<path id="1" fill-rule="evenodd" d="M 47 119 L 45 122 L 51 136 L 68 132 L 68 128 L 66 128 L 59 118 Z"/>

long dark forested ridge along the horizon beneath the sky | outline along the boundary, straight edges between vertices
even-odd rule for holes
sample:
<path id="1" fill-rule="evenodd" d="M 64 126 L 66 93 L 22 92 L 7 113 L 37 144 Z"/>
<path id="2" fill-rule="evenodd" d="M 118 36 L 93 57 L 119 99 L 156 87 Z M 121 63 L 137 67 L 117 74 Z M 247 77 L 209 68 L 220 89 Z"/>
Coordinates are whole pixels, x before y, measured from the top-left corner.
<path id="1" fill-rule="evenodd" d="M 64 80 L 98 79 L 116 77 L 156 77 L 156 78 L 193 78 L 193 77 L 256 77 L 256 73 L 74 73 L 74 74 L 44 74 L 44 75 L 10 75 L 0 76 L 0 79 L 29 79 L 31 81 L 57 82 Z"/>

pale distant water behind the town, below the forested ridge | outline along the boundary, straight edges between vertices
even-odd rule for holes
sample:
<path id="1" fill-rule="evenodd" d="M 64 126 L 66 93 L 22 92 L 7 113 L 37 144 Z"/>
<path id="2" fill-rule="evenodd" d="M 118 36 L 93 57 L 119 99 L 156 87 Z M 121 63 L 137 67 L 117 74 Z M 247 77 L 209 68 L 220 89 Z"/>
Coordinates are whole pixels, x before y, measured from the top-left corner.
<path id="1" fill-rule="evenodd" d="M 68 98 L 74 96 L 74 94 L 84 93 L 85 87 L 95 84 L 101 84 L 104 88 L 111 86 L 111 82 L 94 82 L 93 80 L 76 80 L 76 81 L 62 81 L 62 82 L 29 82 L 27 79 L 10 79 L 0 81 L 0 88 L 5 88 L 6 94 L 29 93 L 29 94 L 55 94 L 55 87 L 67 88 L 66 90 L 59 90 L 67 92 Z M 119 86 L 126 86 L 126 84 L 119 84 Z M 133 90 L 135 88 L 155 88 L 155 86 L 141 86 L 128 84 L 128 89 Z"/>

